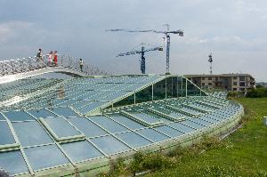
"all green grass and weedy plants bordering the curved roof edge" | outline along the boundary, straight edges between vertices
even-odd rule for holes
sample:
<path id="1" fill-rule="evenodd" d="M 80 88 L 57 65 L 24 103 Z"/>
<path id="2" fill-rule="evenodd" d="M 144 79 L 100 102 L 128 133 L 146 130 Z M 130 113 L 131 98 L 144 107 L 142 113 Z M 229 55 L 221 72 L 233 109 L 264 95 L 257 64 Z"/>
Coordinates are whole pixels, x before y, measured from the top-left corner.
<path id="1" fill-rule="evenodd" d="M 267 176 L 267 98 L 239 98 L 246 117 L 243 126 L 223 141 L 204 137 L 190 148 L 177 147 L 168 155 L 137 153 L 125 165 L 113 164 L 108 176 Z"/>

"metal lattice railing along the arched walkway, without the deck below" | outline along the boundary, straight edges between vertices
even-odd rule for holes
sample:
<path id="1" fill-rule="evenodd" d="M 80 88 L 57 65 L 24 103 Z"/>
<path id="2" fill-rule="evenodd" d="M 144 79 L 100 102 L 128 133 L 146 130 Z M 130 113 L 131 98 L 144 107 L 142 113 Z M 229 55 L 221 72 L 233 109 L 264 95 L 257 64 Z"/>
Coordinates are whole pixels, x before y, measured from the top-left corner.
<path id="1" fill-rule="evenodd" d="M 2 60 L 0 61 L 0 76 L 14 75 L 18 73 L 25 73 L 40 68 L 47 67 L 64 67 L 74 69 L 85 73 L 86 75 L 108 75 L 108 72 L 102 71 L 100 68 L 93 67 L 90 64 L 85 63 L 83 71 L 79 66 L 79 60 L 68 55 L 58 55 L 57 66 L 48 66 L 48 56 L 42 58 L 39 57 L 28 57 L 15 60 Z"/>

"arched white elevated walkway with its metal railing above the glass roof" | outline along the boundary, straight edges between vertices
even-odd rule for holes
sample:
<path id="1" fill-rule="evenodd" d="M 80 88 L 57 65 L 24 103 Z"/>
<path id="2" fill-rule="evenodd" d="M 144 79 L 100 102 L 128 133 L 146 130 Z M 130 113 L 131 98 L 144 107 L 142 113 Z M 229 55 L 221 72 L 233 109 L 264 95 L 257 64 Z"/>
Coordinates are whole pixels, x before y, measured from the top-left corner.
<path id="1" fill-rule="evenodd" d="M 70 76 L 107 75 L 107 72 L 90 66 L 85 61 L 83 71 L 80 71 L 78 59 L 65 55 L 58 57 L 57 66 L 48 66 L 46 61 L 46 56 L 42 59 L 28 57 L 0 61 L 0 84 L 46 73 L 63 73 Z"/>

